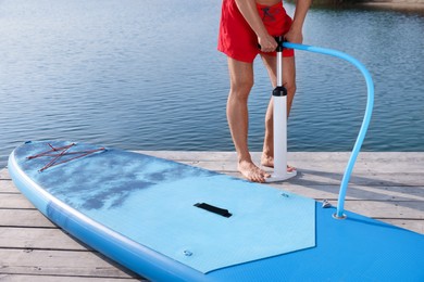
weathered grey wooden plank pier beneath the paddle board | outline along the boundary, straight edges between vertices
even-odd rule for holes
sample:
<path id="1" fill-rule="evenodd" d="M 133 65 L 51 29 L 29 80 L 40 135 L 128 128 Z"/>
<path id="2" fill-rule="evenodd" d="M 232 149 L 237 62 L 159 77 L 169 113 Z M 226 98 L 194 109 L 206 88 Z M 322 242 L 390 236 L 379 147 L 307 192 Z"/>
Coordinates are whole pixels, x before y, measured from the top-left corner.
<path id="1" fill-rule="evenodd" d="M 142 152 L 240 177 L 232 152 Z M 276 189 L 336 205 L 350 153 L 289 153 L 298 176 Z M 253 153 L 258 162 L 260 153 Z M 424 234 L 424 152 L 364 152 L 345 208 Z M 139 281 L 43 217 L 0 169 L 0 281 Z"/>

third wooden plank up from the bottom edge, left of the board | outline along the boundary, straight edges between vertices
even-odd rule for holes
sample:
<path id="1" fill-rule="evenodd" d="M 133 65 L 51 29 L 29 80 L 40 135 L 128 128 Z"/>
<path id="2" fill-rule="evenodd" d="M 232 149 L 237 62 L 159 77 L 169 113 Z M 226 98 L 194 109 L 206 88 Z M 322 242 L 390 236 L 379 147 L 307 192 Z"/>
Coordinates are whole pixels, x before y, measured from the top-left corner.
<path id="1" fill-rule="evenodd" d="M 0 248 L 87 251 L 87 246 L 60 229 L 0 228 Z"/>

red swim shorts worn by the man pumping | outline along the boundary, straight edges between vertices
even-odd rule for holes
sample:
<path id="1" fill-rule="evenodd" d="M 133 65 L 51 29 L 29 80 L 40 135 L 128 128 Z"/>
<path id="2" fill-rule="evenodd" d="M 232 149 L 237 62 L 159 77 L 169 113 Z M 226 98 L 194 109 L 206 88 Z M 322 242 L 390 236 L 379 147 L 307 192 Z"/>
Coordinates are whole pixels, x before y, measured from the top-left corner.
<path id="1" fill-rule="evenodd" d="M 257 9 L 271 36 L 282 36 L 290 29 L 291 18 L 283 8 L 283 1 L 272 7 L 257 3 Z M 259 49 L 258 37 L 238 10 L 235 0 L 223 0 L 217 50 L 247 63 L 252 63 L 259 53 L 264 53 Z M 292 49 L 283 50 L 283 56 L 292 56 L 294 53 Z M 275 52 L 264 54 L 276 55 Z"/>

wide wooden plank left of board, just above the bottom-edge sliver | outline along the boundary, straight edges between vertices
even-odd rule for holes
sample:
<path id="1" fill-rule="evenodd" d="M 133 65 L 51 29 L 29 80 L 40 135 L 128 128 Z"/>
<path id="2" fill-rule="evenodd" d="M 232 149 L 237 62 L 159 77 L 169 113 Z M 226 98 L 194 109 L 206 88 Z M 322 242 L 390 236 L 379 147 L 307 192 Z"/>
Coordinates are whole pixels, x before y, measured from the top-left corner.
<path id="1" fill-rule="evenodd" d="M 137 278 L 93 252 L 0 248 L 0 266 L 2 274 Z"/>

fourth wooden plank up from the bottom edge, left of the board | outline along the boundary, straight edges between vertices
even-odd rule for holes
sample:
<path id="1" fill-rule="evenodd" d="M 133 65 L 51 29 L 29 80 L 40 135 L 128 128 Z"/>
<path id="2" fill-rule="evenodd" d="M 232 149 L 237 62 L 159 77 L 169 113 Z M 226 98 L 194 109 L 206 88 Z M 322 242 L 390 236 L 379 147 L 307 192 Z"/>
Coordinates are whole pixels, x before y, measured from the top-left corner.
<path id="1" fill-rule="evenodd" d="M 0 209 L 0 227 L 55 228 L 36 209 Z"/>

